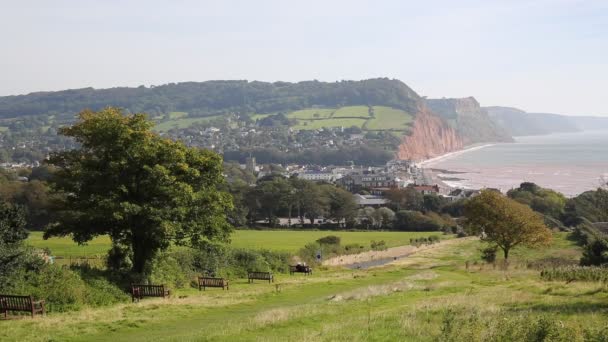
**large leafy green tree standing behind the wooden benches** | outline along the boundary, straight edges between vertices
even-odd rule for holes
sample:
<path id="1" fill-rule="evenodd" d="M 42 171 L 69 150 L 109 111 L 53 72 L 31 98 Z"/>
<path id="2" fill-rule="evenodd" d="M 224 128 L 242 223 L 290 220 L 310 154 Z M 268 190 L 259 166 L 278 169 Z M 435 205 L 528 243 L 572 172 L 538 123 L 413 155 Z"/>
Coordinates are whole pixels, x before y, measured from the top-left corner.
<path id="1" fill-rule="evenodd" d="M 60 133 L 80 148 L 54 153 L 52 189 L 60 195 L 56 218 L 44 237 L 71 235 L 86 243 L 108 235 L 132 254 L 132 271 L 147 273 L 149 261 L 171 243 L 228 241 L 232 209 L 219 191 L 222 159 L 150 131 L 145 114 L 119 109 L 85 110 Z"/>

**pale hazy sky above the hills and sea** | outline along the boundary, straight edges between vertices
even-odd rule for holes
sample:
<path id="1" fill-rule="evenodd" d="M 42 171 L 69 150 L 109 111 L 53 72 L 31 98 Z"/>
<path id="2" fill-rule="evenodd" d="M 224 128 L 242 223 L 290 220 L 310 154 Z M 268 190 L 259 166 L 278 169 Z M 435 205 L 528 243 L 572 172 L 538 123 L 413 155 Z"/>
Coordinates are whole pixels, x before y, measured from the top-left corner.
<path id="1" fill-rule="evenodd" d="M 608 116 L 608 1 L 0 0 L 0 96 L 396 78 L 429 98 Z"/>

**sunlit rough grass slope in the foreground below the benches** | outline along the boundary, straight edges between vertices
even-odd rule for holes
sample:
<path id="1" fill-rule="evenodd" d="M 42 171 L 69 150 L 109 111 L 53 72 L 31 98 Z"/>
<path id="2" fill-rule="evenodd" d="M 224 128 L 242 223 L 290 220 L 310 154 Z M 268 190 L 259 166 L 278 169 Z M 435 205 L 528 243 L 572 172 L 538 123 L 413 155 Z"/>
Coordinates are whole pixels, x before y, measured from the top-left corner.
<path id="1" fill-rule="evenodd" d="M 557 322 L 557 333 L 571 334 L 568 341 L 580 341 L 583 329 L 607 327 L 606 286 L 541 281 L 516 262 L 580 255 L 564 234 L 554 241 L 517 251 L 506 271 L 465 269 L 482 244 L 461 239 L 375 269 L 279 275 L 280 291 L 235 279 L 229 291 L 184 290 L 168 300 L 2 321 L 0 340 L 511 341 L 496 337 L 544 317 Z"/>

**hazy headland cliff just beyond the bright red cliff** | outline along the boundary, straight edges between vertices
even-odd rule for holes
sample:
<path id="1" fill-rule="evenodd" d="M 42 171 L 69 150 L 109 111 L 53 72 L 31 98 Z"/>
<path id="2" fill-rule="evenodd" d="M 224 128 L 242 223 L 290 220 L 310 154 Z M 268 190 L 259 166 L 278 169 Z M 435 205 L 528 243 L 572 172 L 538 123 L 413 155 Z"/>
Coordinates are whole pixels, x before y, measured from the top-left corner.
<path id="1" fill-rule="evenodd" d="M 465 145 L 513 141 L 511 135 L 490 118 L 474 97 L 429 99 L 426 104 L 456 130 Z"/>

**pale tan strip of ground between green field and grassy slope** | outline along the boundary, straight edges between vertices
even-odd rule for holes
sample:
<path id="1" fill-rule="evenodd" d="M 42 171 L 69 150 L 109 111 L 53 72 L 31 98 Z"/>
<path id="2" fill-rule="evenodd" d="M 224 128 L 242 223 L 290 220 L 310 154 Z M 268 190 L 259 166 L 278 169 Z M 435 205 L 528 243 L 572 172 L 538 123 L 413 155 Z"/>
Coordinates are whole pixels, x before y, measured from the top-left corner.
<path id="1" fill-rule="evenodd" d="M 337 257 L 333 257 L 331 259 L 327 259 L 323 261 L 323 265 L 325 266 L 344 266 L 344 265 L 353 265 L 357 263 L 369 263 L 375 260 L 383 260 L 383 259 L 399 259 L 411 254 L 441 248 L 443 246 L 452 245 L 460 242 L 462 239 L 449 239 L 443 240 L 433 245 L 421 245 L 420 247 L 416 246 L 399 246 L 392 247 L 385 251 L 367 251 L 359 254 L 351 254 L 351 255 L 341 255 Z"/>

